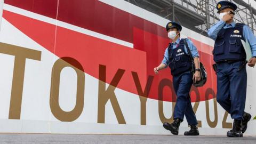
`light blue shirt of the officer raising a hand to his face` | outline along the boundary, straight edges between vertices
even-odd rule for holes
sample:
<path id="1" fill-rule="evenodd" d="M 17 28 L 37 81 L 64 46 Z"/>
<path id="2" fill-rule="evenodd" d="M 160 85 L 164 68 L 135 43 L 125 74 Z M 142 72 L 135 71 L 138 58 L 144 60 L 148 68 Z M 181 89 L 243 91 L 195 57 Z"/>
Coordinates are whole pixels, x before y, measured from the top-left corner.
<path id="1" fill-rule="evenodd" d="M 234 28 L 235 26 L 236 26 L 236 23 L 234 21 L 230 24 L 227 24 L 225 21 L 220 20 L 212 28 L 210 28 L 207 31 L 207 33 L 208 33 L 209 37 L 215 41 L 218 36 L 219 31 L 222 28 L 225 28 L 225 29 L 226 28 Z M 247 39 L 247 41 L 251 45 L 252 57 L 256 57 L 256 38 L 253 35 L 252 30 L 246 25 L 244 25 L 244 28 L 243 28 L 243 36 L 244 36 L 244 38 Z"/>

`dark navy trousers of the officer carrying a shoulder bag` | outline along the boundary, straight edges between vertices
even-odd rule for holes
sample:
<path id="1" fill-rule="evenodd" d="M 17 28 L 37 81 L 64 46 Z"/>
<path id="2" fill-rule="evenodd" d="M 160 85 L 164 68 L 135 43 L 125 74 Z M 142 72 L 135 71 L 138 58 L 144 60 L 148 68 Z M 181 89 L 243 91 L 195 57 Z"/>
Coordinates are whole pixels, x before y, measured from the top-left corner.
<path id="1" fill-rule="evenodd" d="M 198 123 L 189 96 L 193 84 L 192 78 L 193 75 L 190 71 L 173 76 L 173 87 L 177 95 L 173 118 L 180 118 L 183 120 L 185 115 L 189 125 L 196 125 Z"/>

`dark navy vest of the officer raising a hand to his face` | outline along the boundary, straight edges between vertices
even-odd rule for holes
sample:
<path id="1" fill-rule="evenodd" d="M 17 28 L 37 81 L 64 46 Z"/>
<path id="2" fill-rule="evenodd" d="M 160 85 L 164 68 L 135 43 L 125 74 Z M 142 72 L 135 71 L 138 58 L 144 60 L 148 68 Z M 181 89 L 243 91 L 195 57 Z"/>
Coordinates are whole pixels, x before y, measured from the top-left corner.
<path id="1" fill-rule="evenodd" d="M 246 59 L 246 53 L 241 42 L 241 39 L 245 39 L 243 27 L 243 23 L 236 23 L 234 28 L 222 28 L 219 31 L 213 49 L 215 62 L 225 60 L 244 61 Z"/>

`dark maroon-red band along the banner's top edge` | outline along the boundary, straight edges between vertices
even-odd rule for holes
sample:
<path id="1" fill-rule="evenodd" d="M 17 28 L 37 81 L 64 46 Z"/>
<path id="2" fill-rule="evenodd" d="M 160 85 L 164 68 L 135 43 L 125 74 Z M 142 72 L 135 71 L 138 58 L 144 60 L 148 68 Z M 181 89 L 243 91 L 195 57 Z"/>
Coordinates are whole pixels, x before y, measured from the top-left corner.
<path id="1" fill-rule="evenodd" d="M 166 37 L 164 27 L 100 1 L 61 0 L 58 4 L 58 0 L 5 0 L 4 3 L 130 43 L 133 43 L 133 27 Z"/>

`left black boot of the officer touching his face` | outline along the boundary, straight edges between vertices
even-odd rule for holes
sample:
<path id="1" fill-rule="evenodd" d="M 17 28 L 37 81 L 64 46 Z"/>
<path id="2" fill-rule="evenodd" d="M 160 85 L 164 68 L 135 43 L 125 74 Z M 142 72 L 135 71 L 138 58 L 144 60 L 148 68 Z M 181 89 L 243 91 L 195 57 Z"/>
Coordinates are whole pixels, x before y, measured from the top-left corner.
<path id="1" fill-rule="evenodd" d="M 241 131 L 241 123 L 242 120 L 234 119 L 233 129 L 228 131 L 228 137 L 243 137 L 243 133 Z"/>

